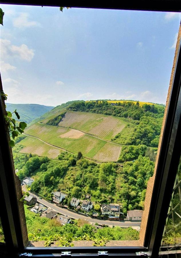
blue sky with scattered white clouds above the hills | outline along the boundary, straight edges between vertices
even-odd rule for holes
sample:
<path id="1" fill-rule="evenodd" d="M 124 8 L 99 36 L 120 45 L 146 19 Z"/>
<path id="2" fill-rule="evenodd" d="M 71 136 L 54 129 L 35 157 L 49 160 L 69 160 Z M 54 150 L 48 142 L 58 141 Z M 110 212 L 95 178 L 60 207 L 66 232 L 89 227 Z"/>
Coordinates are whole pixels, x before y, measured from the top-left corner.
<path id="1" fill-rule="evenodd" d="M 179 13 L 0 5 L 9 103 L 75 99 L 165 103 Z"/>

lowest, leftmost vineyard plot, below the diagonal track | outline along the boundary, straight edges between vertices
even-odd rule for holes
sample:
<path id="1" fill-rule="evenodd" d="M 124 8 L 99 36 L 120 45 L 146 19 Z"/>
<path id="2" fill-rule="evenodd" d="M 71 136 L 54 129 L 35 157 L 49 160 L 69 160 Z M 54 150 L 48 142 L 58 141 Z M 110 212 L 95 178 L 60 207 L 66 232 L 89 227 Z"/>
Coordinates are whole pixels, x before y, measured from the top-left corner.
<path id="1" fill-rule="evenodd" d="M 24 146 L 20 153 L 31 153 L 39 156 L 47 156 L 51 159 L 57 159 L 57 156 L 63 151 L 61 149 L 49 146 L 40 140 L 27 136 L 25 139 L 21 140 L 21 145 Z"/>

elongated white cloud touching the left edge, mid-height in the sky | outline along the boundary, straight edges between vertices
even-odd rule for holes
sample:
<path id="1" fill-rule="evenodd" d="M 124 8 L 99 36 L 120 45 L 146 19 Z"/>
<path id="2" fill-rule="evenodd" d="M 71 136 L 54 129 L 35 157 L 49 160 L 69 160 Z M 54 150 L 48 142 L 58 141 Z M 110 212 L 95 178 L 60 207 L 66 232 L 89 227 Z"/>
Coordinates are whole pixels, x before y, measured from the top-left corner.
<path id="1" fill-rule="evenodd" d="M 18 57 L 22 60 L 31 61 L 34 56 L 34 50 L 27 45 L 15 46 L 10 40 L 0 39 L 1 56 Z M 2 58 L 2 57 L 1 57 Z"/>

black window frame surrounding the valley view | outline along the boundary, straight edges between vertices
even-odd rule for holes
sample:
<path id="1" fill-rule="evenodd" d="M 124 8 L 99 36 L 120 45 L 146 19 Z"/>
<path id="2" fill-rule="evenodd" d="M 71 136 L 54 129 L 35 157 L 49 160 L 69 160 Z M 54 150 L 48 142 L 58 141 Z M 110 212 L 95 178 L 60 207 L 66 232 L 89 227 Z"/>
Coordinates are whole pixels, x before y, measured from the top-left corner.
<path id="1" fill-rule="evenodd" d="M 59 6 L 56 1 L 2 1 L 4 4 L 22 4 L 22 5 L 43 5 L 43 6 Z M 102 9 L 124 9 L 124 10 L 144 10 L 144 11 L 180 11 L 180 0 L 153 0 L 153 1 L 134 1 L 123 2 L 120 4 L 109 5 L 73 5 L 68 1 L 61 3 L 63 6 L 82 7 L 82 8 L 102 8 Z M 181 42 L 180 42 L 181 43 Z M 1 80 L 0 80 L 1 81 Z M 70 251 L 71 255 L 97 257 L 98 251 L 108 252 L 102 253 L 101 256 L 129 256 L 135 255 L 144 257 L 158 257 L 162 232 L 166 221 L 166 215 L 170 204 L 170 198 L 176 171 L 181 155 L 181 50 L 179 46 L 176 67 L 170 99 L 168 103 L 168 111 L 164 132 L 162 137 L 161 149 L 157 165 L 157 173 L 154 182 L 152 201 L 148 216 L 148 223 L 144 239 L 144 246 L 138 247 L 24 247 L 22 238 L 22 228 L 19 216 L 17 197 L 15 196 L 15 181 L 13 175 L 13 165 L 11 162 L 11 154 L 8 145 L 7 133 L 4 123 L 0 126 L 0 196 L 1 207 L 3 212 L 0 213 L 5 241 L 6 251 L 9 255 L 15 257 L 19 253 L 32 253 L 33 257 L 50 257 L 52 253 L 60 253 Z M 0 121 L 4 120 L 3 103 L 0 97 Z M 81 253 L 81 254 L 80 254 Z M 61 254 L 64 255 L 63 253 Z"/>

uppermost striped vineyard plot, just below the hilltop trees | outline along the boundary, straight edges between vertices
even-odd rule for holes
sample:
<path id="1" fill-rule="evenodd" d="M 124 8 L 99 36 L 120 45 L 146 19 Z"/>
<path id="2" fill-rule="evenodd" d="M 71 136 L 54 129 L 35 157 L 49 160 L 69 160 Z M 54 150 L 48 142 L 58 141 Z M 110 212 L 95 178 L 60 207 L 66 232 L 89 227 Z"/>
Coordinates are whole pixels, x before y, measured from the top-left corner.
<path id="1" fill-rule="evenodd" d="M 67 110 L 59 126 L 75 128 L 102 139 L 111 140 L 123 130 L 126 122 L 118 117 Z"/>

